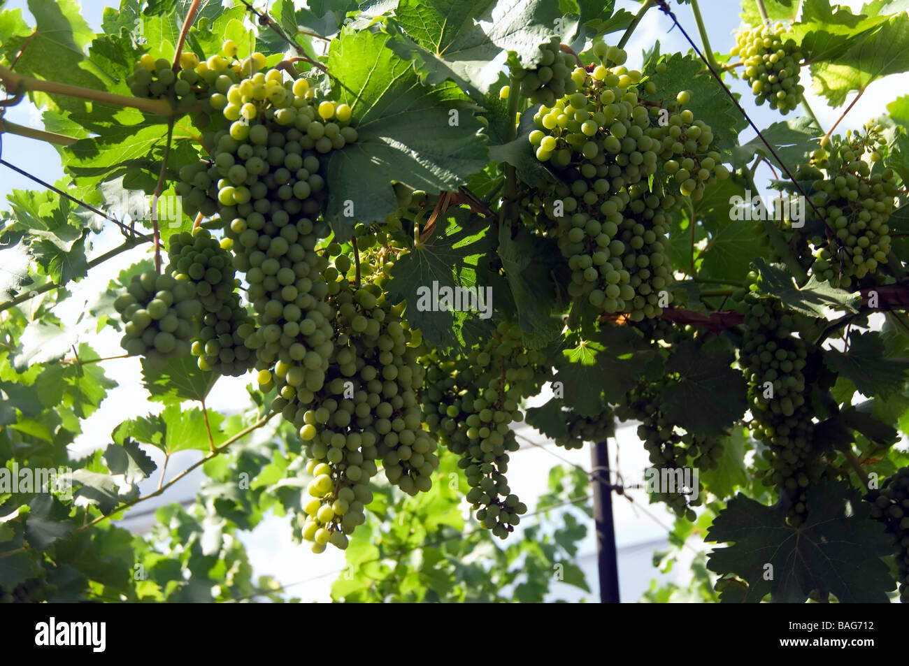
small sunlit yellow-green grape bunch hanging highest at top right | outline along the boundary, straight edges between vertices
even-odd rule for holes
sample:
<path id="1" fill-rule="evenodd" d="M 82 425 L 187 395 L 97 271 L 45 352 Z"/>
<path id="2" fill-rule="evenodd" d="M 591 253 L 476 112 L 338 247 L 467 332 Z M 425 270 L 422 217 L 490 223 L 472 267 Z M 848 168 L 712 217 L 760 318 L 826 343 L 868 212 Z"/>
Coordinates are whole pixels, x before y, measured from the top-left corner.
<path id="1" fill-rule="evenodd" d="M 788 114 L 802 101 L 799 84 L 802 53 L 792 38 L 785 38 L 782 24 L 763 25 L 738 36 L 732 55 L 739 55 L 744 78 L 751 84 L 756 104 L 767 104 Z M 785 41 L 784 41 L 785 38 Z"/>

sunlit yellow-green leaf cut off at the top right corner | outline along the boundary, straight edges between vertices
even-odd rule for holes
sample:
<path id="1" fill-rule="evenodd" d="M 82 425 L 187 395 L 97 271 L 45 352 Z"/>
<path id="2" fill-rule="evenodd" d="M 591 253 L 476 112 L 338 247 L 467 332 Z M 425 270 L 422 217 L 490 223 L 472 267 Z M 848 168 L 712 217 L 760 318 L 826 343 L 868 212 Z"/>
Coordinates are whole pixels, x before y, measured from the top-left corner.
<path id="1" fill-rule="evenodd" d="M 903 13 L 858 35 L 848 50 L 839 51 L 829 61 L 815 63 L 811 74 L 818 94 L 823 94 L 832 106 L 840 106 L 849 92 L 864 90 L 879 78 L 906 70 L 909 15 Z"/>

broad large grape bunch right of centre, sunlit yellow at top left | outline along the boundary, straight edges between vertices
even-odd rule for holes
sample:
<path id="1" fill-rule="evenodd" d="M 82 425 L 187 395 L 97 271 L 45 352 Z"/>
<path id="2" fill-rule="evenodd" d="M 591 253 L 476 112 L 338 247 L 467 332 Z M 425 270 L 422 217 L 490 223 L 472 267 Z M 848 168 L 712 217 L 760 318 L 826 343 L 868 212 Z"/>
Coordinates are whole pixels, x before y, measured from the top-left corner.
<path id="1" fill-rule="evenodd" d="M 624 62 L 620 49 L 601 45 L 600 52 L 606 62 Z M 542 106 L 529 135 L 537 159 L 553 164 L 562 181 L 537 198 L 558 227 L 573 272 L 569 294 L 634 321 L 658 316 L 671 301 L 660 294 L 671 281 L 670 216 L 683 196 L 699 198 L 729 172 L 709 150 L 709 126 L 683 108 L 687 92 L 661 115 L 639 100 L 640 72 L 597 65 L 572 76 L 578 92 Z M 643 89 L 654 91 L 653 84 Z"/>

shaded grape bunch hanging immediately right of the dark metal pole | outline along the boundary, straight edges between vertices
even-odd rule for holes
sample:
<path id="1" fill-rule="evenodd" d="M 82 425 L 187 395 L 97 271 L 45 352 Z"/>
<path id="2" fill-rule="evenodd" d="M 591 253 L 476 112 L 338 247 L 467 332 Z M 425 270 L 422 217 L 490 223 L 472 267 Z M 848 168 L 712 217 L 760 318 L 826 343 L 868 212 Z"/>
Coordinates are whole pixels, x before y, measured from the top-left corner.
<path id="1" fill-rule="evenodd" d="M 680 518 L 694 521 L 697 515 L 692 507 L 703 503 L 704 488 L 698 482 L 696 489 L 689 488 L 682 492 L 679 487 L 682 480 L 674 471 L 684 472 L 696 468 L 706 472 L 714 469 L 723 456 L 723 444 L 713 437 L 698 437 L 691 432 L 680 432 L 677 424 L 665 416 L 662 410 L 662 390 L 672 379 L 667 377 L 659 382 L 640 381 L 628 392 L 624 403 L 616 409 L 616 414 L 623 421 L 640 422 L 637 436 L 644 442 L 650 462 L 660 472 L 661 478 L 667 473 L 664 471 L 670 471 L 676 483 L 674 492 L 666 492 L 668 489 L 654 492 L 654 500 L 664 502 Z"/>

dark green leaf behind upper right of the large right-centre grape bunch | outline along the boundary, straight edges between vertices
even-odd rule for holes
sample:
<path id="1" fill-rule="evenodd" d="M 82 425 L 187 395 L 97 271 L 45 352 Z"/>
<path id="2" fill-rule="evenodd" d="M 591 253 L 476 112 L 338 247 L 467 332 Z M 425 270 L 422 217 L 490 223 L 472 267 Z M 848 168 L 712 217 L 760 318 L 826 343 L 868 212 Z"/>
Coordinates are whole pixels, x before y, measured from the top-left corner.
<path id="1" fill-rule="evenodd" d="M 657 63 L 666 64 L 662 74 L 655 69 Z M 643 94 L 642 99 L 656 104 L 663 104 L 668 99 L 674 100 L 679 93 L 680 82 L 684 82 L 685 90 L 691 92 L 691 101 L 685 108 L 691 110 L 695 119 L 710 125 L 717 150 L 728 151 L 736 144 L 739 133 L 748 122 L 714 77 L 704 74 L 704 63 L 699 57 L 664 55 L 659 60 L 652 61 L 652 68 L 646 69 L 644 75 L 656 86 L 656 90 L 651 94 Z"/>

